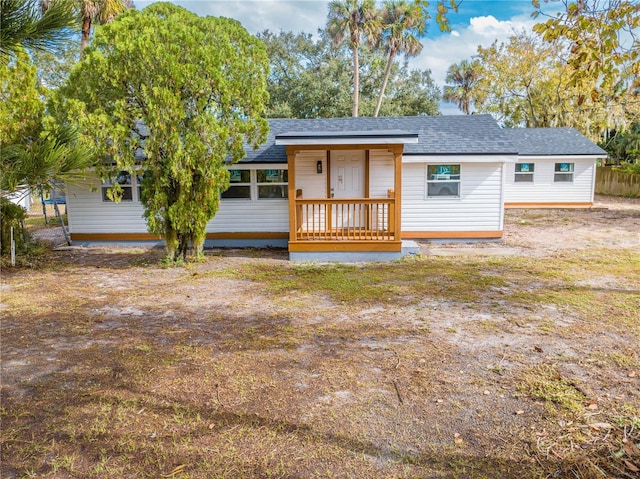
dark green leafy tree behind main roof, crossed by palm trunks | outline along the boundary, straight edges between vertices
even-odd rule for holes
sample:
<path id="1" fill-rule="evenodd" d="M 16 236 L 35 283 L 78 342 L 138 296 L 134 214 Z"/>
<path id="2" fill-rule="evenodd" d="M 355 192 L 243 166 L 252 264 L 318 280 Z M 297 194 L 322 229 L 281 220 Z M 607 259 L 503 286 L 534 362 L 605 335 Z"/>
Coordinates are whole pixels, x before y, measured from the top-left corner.
<path id="1" fill-rule="evenodd" d="M 265 31 L 259 38 L 267 46 L 271 64 L 270 117 L 339 118 L 352 113 L 351 52 L 346 45 L 334 47 L 324 32 L 314 39 L 304 33 Z M 386 58 L 384 52 L 367 46 L 360 49 L 360 57 L 360 111 L 373 115 Z M 386 96 L 382 116 L 439 114 L 440 90 L 428 70 L 394 63 Z"/>

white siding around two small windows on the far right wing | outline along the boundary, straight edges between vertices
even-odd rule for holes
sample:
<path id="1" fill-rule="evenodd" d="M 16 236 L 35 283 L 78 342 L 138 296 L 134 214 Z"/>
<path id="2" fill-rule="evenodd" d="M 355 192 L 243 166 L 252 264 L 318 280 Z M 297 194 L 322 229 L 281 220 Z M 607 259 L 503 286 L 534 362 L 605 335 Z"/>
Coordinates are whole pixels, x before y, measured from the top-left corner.
<path id="1" fill-rule="evenodd" d="M 595 160 L 580 158 L 520 157 L 519 163 L 534 163 L 533 183 L 514 181 L 515 164 L 506 166 L 505 204 L 510 203 L 591 203 L 595 181 Z M 573 163 L 573 182 L 553 181 L 556 163 Z"/>

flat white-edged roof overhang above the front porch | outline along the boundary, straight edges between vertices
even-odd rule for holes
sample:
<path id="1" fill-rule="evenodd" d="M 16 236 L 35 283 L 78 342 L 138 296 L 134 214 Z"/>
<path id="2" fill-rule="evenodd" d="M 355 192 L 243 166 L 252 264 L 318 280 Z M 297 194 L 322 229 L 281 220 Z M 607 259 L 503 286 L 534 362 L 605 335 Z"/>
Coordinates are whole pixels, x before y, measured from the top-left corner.
<path id="1" fill-rule="evenodd" d="M 276 145 L 398 145 L 418 143 L 418 134 L 403 130 L 292 131 L 276 135 Z"/>

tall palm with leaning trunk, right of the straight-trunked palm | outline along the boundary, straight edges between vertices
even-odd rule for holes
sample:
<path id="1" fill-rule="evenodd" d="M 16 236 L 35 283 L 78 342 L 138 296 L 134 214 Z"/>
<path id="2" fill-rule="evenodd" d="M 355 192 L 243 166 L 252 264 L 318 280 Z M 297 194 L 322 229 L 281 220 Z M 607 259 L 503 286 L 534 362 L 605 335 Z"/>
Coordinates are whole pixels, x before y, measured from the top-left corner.
<path id="1" fill-rule="evenodd" d="M 382 12 L 381 42 L 388 52 L 387 68 L 378 96 L 378 104 L 373 116 L 378 116 L 382 98 L 387 88 L 391 66 L 396 54 L 403 53 L 406 57 L 413 57 L 422 51 L 422 44 L 418 40 L 426 31 L 426 21 L 429 18 L 420 0 L 410 3 L 408 0 L 387 0 Z"/>

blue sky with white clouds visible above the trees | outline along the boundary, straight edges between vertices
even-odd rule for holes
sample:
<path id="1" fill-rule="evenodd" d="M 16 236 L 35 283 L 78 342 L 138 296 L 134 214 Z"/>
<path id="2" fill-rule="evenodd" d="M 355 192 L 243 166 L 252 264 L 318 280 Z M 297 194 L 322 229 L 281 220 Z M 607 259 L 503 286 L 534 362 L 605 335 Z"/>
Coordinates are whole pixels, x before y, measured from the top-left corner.
<path id="1" fill-rule="evenodd" d="M 144 8 L 151 0 L 137 0 Z M 316 33 L 326 23 L 328 1 L 322 0 L 173 0 L 172 3 L 198 15 L 235 18 L 256 34 L 263 30 Z M 378 3 L 382 3 L 380 0 Z M 436 1 L 432 1 L 431 8 Z M 549 13 L 558 10 L 558 2 L 546 5 Z M 433 11 L 433 10 L 431 10 Z M 422 40 L 422 53 L 411 59 L 412 68 L 430 69 L 436 83 L 443 86 L 449 65 L 471 58 L 478 45 L 506 40 L 516 30 L 530 29 L 533 7 L 530 0 L 463 0 L 458 13 L 450 13 L 451 32 L 440 32 L 434 21 Z M 435 16 L 433 14 L 432 16 Z M 445 114 L 458 113 L 454 105 L 442 105 Z"/>

